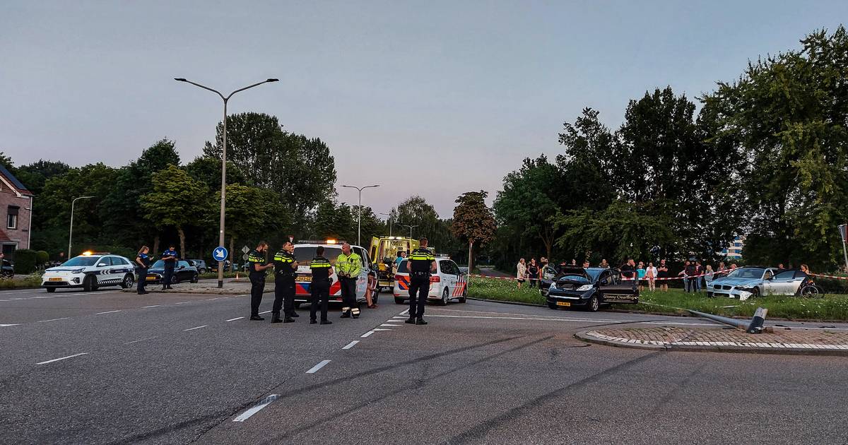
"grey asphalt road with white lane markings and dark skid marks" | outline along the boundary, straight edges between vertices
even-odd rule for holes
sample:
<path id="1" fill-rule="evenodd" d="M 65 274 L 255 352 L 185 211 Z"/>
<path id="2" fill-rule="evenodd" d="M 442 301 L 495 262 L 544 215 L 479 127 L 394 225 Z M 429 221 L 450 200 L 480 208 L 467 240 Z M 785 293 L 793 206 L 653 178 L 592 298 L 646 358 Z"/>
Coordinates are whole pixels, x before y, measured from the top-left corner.
<path id="1" fill-rule="evenodd" d="M 0 292 L 0 442 L 846 442 L 843 358 L 572 337 L 697 319 L 469 301 L 416 326 L 404 309 L 271 325 L 245 296 Z"/>

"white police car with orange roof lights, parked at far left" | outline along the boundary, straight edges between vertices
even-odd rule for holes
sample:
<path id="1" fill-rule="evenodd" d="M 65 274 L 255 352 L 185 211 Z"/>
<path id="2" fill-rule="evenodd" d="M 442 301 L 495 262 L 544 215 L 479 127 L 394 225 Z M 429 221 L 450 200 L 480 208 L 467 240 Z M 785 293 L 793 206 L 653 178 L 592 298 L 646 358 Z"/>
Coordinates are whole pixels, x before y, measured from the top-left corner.
<path id="1" fill-rule="evenodd" d="M 42 287 L 55 292 L 59 287 L 82 287 L 93 291 L 101 286 L 132 287 L 136 267 L 129 259 L 110 253 L 86 252 L 63 264 L 44 270 Z"/>

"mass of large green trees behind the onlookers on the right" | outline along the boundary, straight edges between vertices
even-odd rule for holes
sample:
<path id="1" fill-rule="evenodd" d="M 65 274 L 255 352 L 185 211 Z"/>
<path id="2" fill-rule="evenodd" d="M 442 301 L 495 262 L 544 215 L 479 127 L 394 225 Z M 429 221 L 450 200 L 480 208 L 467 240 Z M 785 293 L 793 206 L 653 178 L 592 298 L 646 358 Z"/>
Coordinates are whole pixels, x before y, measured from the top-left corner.
<path id="1" fill-rule="evenodd" d="M 748 263 L 834 270 L 848 220 L 845 67 L 840 26 L 695 100 L 645 92 L 614 131 L 583 109 L 563 125 L 562 153 L 505 176 L 494 257 L 717 260 L 746 235 Z"/>

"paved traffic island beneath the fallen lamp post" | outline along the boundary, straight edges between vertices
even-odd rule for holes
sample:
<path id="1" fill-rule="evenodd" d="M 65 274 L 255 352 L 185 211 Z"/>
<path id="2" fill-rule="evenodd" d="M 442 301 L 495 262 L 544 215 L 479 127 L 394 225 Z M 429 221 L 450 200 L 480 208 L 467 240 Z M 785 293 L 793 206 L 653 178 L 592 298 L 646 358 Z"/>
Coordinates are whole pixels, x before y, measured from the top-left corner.
<path id="1" fill-rule="evenodd" d="M 827 329 L 770 328 L 748 334 L 733 328 L 661 326 L 580 331 L 575 337 L 624 348 L 848 356 L 848 332 Z"/>

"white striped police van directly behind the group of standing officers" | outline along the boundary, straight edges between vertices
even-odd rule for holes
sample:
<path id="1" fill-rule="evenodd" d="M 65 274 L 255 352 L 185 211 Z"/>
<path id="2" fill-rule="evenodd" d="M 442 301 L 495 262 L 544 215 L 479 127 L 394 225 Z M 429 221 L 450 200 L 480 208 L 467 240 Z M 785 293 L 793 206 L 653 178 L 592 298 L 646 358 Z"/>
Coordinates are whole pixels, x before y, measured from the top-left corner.
<path id="1" fill-rule="evenodd" d="M 295 307 L 299 307 L 301 303 L 310 303 L 312 301 L 312 292 L 310 290 L 312 270 L 310 270 L 310 263 L 315 258 L 315 249 L 319 246 L 324 248 L 324 258 L 330 261 L 333 268 L 333 273 L 330 275 L 330 279 L 332 280 L 332 284 L 330 285 L 330 303 L 342 301 L 342 285 L 338 282 L 338 275 L 336 275 L 336 259 L 338 259 L 338 255 L 342 254 L 342 244 L 335 240 L 326 240 L 324 242 L 298 241 L 294 245 L 294 258 L 298 260 L 298 271 L 296 273 L 297 275 L 294 276 Z M 364 302 L 371 261 L 365 248 L 351 245 L 350 251 L 359 255 L 362 261 L 360 275 L 356 279 L 356 300 Z M 371 298 L 377 303 L 377 295 L 372 295 Z"/>

